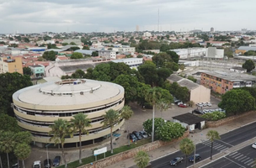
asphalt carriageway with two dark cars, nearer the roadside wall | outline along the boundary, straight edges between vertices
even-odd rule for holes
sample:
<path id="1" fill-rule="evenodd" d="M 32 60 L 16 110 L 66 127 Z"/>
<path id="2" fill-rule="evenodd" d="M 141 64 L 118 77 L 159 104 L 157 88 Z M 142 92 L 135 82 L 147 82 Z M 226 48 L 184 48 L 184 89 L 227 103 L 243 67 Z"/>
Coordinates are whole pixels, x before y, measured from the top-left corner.
<path id="1" fill-rule="evenodd" d="M 222 134 L 221 135 L 221 140 L 216 140 L 214 142 L 214 147 L 213 147 L 213 155 L 223 151 L 227 150 L 228 148 L 232 147 L 233 145 L 240 144 L 248 139 L 252 139 L 253 137 L 256 136 L 256 123 L 251 123 L 246 126 L 243 126 L 239 129 L 232 130 L 228 132 L 227 134 Z M 252 150 L 252 149 L 251 149 Z M 256 152 L 256 150 L 255 150 Z M 201 155 L 201 160 L 208 159 L 210 157 L 211 153 L 211 142 L 205 141 L 200 144 L 196 145 L 196 153 Z M 249 155 L 248 153 L 245 153 L 244 155 Z M 254 158 L 256 157 L 256 153 L 253 153 Z M 181 153 L 181 151 L 177 151 L 171 155 L 164 156 L 163 158 L 160 158 L 158 160 L 152 161 L 152 167 L 153 168 L 162 168 L 162 167 L 170 167 L 169 161 L 172 160 L 173 158 L 177 156 L 182 156 L 185 158 L 185 156 Z M 239 158 L 237 158 L 239 159 Z M 229 160 L 227 157 L 226 160 Z M 220 160 L 221 161 L 221 160 Z M 185 162 L 185 161 L 184 161 Z M 180 163 L 176 167 L 184 167 L 184 162 Z M 230 163 L 230 166 L 232 168 L 239 167 L 235 163 Z M 193 163 L 189 163 L 187 166 L 193 165 Z M 220 165 L 216 167 L 221 167 Z"/>

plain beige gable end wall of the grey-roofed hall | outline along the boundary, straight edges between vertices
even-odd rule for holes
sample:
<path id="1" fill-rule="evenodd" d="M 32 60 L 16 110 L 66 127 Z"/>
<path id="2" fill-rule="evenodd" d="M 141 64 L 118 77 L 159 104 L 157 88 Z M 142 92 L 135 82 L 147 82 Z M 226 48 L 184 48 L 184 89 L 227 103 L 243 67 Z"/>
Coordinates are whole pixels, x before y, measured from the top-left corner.
<path id="1" fill-rule="evenodd" d="M 211 89 L 206 88 L 202 85 L 196 87 L 190 91 L 190 101 L 195 103 L 199 102 L 210 102 L 211 100 Z"/>

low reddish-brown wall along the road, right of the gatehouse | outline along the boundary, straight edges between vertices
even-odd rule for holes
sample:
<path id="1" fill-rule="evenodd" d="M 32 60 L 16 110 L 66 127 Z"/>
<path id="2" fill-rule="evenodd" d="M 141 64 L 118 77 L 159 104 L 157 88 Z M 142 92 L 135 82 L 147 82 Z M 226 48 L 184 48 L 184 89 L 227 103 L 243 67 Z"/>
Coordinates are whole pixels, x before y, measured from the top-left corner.
<path id="1" fill-rule="evenodd" d="M 219 127 L 223 124 L 230 123 L 235 119 L 243 118 L 243 117 L 248 116 L 252 113 L 256 113 L 256 111 L 250 111 L 250 112 L 247 112 L 247 113 L 231 116 L 231 117 L 228 117 L 228 118 L 223 118 L 223 119 L 220 119 L 218 121 L 206 121 L 205 125 L 206 125 L 206 127 L 209 127 L 209 128 Z"/>

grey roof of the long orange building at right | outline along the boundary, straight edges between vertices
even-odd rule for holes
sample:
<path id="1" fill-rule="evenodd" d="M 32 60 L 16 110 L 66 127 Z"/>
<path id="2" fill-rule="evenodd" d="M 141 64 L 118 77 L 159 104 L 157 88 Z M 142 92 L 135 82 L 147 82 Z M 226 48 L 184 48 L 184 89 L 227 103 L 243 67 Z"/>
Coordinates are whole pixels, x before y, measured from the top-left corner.
<path id="1" fill-rule="evenodd" d="M 256 81 L 256 76 L 249 76 L 243 73 L 236 72 L 224 72 L 224 71 L 205 71 L 203 72 L 210 76 L 216 76 L 218 78 L 227 80 L 227 81 Z"/>

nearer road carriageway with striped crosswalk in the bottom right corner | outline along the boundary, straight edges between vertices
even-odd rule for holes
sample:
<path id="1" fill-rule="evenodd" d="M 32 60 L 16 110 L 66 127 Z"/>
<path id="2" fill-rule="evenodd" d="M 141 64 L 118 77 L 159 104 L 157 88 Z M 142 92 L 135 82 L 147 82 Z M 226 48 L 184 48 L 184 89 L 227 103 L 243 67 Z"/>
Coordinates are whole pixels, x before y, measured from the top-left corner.
<path id="1" fill-rule="evenodd" d="M 232 152 L 231 154 L 222 157 L 219 160 L 205 165 L 203 168 L 254 168 L 256 166 L 256 150 L 251 145 L 244 147 L 241 150 Z"/>

